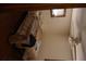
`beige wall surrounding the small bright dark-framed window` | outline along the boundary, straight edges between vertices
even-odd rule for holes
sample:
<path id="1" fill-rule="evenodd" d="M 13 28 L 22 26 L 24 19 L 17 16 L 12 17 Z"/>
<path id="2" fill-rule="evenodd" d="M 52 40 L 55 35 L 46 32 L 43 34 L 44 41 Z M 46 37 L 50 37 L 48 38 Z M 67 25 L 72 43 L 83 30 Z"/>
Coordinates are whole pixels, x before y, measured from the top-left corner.
<path id="1" fill-rule="evenodd" d="M 65 17 L 51 17 L 50 10 L 41 11 L 41 28 L 44 27 L 42 31 L 57 33 L 58 35 L 69 35 L 71 9 L 66 9 Z M 63 27 L 61 28 L 61 26 Z M 58 31 L 51 31 L 51 29 L 57 29 Z"/>

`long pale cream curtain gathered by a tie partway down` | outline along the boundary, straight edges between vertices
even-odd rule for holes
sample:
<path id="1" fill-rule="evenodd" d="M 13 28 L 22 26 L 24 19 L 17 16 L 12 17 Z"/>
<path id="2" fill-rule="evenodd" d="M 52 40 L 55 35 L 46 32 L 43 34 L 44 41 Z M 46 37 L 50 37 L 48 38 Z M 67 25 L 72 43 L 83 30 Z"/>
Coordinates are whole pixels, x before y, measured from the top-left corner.
<path id="1" fill-rule="evenodd" d="M 73 9 L 71 18 L 70 43 L 73 60 L 84 60 L 81 42 L 82 9 Z"/>

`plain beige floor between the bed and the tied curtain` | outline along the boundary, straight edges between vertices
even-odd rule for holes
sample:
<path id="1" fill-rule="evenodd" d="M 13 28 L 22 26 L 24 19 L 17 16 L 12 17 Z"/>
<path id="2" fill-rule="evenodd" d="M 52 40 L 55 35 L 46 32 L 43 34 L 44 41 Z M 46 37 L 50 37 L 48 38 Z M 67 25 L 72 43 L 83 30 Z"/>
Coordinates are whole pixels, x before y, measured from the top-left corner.
<path id="1" fill-rule="evenodd" d="M 71 49 L 67 41 L 67 37 L 56 35 L 44 36 L 39 51 L 39 60 L 72 60 L 70 52 Z"/>

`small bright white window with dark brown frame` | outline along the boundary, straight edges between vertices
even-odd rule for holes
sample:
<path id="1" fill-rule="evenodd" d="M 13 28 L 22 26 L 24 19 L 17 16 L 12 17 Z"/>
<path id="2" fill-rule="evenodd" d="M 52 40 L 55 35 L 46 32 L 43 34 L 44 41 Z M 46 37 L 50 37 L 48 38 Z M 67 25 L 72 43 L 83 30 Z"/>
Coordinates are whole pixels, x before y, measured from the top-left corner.
<path id="1" fill-rule="evenodd" d="M 65 16 L 65 9 L 52 9 L 51 17 L 63 17 Z"/>

